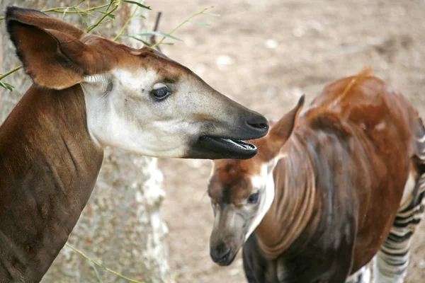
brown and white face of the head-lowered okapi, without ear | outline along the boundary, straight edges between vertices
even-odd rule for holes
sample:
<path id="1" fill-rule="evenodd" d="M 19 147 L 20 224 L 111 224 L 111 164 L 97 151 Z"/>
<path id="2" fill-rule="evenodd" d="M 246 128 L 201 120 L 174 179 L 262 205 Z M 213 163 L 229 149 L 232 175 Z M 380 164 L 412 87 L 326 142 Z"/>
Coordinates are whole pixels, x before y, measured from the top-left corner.
<path id="1" fill-rule="evenodd" d="M 229 265 L 234 260 L 239 249 L 270 209 L 275 196 L 273 169 L 276 162 L 277 158 L 264 164 L 259 175 L 245 175 L 239 180 L 233 179 L 234 182 L 231 183 L 220 183 L 220 177 L 213 175 L 209 194 L 212 197 L 215 220 L 210 238 L 210 254 L 217 264 Z M 244 188 L 249 188 L 248 196 L 241 200 L 232 198 Z M 217 189 L 221 191 L 220 194 L 217 194 Z M 229 250 L 225 255 L 222 254 L 223 246 Z"/>

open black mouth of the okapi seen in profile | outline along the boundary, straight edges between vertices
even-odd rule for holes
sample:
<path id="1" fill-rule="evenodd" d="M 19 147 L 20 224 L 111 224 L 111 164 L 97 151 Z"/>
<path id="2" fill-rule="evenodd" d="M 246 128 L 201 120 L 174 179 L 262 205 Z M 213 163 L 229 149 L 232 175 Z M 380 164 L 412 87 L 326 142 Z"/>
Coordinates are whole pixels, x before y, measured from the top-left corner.
<path id="1" fill-rule="evenodd" d="M 257 153 L 254 144 L 234 139 L 201 136 L 198 139 L 198 144 L 222 155 L 223 158 L 246 159 L 255 156 Z"/>

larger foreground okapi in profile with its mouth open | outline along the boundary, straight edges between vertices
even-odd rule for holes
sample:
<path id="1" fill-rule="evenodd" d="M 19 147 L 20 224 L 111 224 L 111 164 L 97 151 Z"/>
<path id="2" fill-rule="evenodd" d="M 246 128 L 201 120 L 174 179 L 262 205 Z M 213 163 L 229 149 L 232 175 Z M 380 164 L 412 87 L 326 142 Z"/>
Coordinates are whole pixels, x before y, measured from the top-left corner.
<path id="1" fill-rule="evenodd" d="M 35 10 L 7 30 L 34 84 L 0 127 L 0 282 L 39 282 L 86 205 L 105 146 L 145 156 L 250 158 L 265 117 L 150 48 Z"/>

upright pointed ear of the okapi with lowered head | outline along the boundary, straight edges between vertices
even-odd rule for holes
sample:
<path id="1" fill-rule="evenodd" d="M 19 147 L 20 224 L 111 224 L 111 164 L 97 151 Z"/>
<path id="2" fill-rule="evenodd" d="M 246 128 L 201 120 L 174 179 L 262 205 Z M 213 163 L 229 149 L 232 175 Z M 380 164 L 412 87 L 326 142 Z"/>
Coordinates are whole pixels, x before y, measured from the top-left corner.
<path id="1" fill-rule="evenodd" d="M 275 154 L 278 154 L 280 148 L 283 144 L 285 144 L 285 141 L 289 139 L 290 134 L 292 134 L 293 129 L 295 128 L 295 123 L 297 122 L 298 116 L 304 106 L 304 101 L 305 96 L 302 95 L 295 108 L 286 113 L 278 122 L 276 122 L 276 125 L 273 125 L 270 129 L 269 146 L 271 146 L 271 150 Z"/>

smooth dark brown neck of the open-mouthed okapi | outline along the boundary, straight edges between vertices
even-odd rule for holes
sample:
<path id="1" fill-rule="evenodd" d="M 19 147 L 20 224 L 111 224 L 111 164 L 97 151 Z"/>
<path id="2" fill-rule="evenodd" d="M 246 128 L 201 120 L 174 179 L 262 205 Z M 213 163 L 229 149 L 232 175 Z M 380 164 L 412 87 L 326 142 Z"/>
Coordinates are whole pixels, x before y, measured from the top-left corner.
<path id="1" fill-rule="evenodd" d="M 0 278 L 39 282 L 89 200 L 103 160 L 81 86 L 31 86 L 0 127 Z"/>

